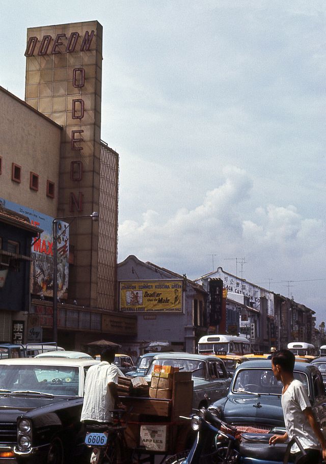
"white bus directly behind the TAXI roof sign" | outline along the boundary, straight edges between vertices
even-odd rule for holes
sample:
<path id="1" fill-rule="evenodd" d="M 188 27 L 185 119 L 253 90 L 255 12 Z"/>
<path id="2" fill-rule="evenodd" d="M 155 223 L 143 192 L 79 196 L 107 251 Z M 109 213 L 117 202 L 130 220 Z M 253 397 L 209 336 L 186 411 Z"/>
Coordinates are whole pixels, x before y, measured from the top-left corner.
<path id="1" fill-rule="evenodd" d="M 216 354 L 220 351 L 246 356 L 251 353 L 247 338 L 235 335 L 205 335 L 198 342 L 198 354 Z"/>

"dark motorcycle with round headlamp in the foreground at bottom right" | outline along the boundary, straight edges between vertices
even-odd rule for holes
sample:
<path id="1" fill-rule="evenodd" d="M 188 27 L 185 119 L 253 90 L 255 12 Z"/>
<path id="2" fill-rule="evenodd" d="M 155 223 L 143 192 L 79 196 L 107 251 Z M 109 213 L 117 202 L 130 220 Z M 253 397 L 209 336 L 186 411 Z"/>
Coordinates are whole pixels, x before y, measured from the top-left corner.
<path id="1" fill-rule="evenodd" d="M 205 408 L 183 419 L 190 419 L 197 432 L 194 444 L 191 450 L 169 457 L 164 464 L 288 464 L 294 443 L 301 453 L 294 464 L 305 464 L 307 460 L 307 453 L 296 438 L 269 445 L 274 433 L 240 434 Z"/>

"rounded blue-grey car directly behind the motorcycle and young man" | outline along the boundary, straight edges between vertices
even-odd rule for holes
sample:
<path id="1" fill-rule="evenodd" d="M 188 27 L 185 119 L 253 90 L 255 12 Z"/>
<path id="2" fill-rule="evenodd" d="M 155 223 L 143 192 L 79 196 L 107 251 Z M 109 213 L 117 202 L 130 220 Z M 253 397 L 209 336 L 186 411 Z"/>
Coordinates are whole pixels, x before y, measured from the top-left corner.
<path id="1" fill-rule="evenodd" d="M 326 431 L 326 395 L 319 370 L 312 364 L 295 363 L 294 378 L 307 388 L 316 418 Z M 209 410 L 240 431 L 269 432 L 284 427 L 282 387 L 270 360 L 246 361 L 234 371 L 227 396 L 215 401 Z"/>

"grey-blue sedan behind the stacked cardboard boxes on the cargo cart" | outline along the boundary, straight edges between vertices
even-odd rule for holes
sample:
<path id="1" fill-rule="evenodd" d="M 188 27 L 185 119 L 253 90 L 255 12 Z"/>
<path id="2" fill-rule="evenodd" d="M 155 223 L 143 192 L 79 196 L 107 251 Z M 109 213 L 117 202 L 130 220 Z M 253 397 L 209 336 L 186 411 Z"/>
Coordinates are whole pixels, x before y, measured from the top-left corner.
<path id="1" fill-rule="evenodd" d="M 224 362 L 216 356 L 175 352 L 156 354 L 147 371 L 146 379 L 148 383 L 151 381 L 151 375 L 156 364 L 178 367 L 182 372 L 192 372 L 194 409 L 207 407 L 213 401 L 223 398 L 231 382 Z"/>

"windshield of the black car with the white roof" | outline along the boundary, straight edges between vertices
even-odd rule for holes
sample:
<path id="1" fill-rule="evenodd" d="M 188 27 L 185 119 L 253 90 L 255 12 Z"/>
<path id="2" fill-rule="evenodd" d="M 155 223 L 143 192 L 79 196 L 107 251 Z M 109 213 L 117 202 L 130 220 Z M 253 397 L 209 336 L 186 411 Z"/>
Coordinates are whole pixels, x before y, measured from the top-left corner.
<path id="1" fill-rule="evenodd" d="M 78 367 L 2 365 L 0 368 L 0 391 L 78 396 L 78 384 Z"/>

